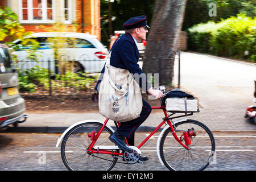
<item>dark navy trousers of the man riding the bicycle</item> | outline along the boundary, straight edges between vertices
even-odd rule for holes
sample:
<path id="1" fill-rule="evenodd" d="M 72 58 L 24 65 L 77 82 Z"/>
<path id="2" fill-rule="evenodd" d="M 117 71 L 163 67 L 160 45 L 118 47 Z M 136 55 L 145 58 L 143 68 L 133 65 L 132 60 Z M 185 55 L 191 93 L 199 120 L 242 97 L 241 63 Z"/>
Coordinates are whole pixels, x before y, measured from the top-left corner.
<path id="1" fill-rule="evenodd" d="M 133 119 L 127 122 L 121 122 L 121 125 L 117 129 L 117 133 L 126 137 L 127 142 L 130 146 L 134 146 L 134 135 L 138 127 L 147 119 L 151 113 L 151 106 L 142 99 L 142 111 L 139 118 Z"/>

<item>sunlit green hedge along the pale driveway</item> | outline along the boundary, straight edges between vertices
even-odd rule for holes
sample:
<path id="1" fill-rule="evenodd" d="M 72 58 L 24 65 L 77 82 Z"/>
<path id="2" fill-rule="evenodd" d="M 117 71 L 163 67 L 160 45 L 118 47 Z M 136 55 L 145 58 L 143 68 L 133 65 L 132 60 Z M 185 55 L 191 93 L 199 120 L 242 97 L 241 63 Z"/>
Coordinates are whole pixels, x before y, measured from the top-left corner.
<path id="1" fill-rule="evenodd" d="M 188 49 L 256 63 L 256 18 L 238 14 L 188 28 Z"/>

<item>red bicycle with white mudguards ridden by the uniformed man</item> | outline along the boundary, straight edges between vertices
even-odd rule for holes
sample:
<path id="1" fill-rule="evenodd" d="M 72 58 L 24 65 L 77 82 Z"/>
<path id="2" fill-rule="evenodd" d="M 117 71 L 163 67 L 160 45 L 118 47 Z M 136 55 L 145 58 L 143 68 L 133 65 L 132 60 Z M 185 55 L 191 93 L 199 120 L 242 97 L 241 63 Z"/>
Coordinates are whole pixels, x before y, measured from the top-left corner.
<path id="1" fill-rule="evenodd" d="M 170 170 L 204 170 L 213 160 L 215 151 L 215 140 L 212 132 L 207 126 L 199 121 L 182 118 L 174 121 L 175 118 L 193 115 L 186 113 L 172 117 L 176 112 L 168 112 L 160 98 L 159 107 L 162 109 L 164 118 L 138 147 L 133 148 L 134 152 L 122 151 L 114 146 L 108 139 L 114 133 L 108 125 L 109 119 L 104 122 L 86 120 L 70 126 L 57 140 L 56 147 L 61 140 L 61 159 L 69 170 L 110 170 L 116 163 L 135 164 L 141 155 L 140 148 L 154 135 L 160 127 L 166 125 L 160 132 L 156 144 L 156 151 L 159 161 Z M 115 126 L 119 126 L 115 122 Z M 118 159 L 123 159 L 118 162 Z"/>

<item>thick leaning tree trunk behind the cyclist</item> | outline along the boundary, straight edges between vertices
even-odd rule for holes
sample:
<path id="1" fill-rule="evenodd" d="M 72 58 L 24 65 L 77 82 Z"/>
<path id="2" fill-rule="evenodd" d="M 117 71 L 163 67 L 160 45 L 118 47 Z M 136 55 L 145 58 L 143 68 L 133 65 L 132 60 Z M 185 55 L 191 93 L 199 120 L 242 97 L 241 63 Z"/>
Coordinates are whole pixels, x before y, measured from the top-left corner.
<path id="1" fill-rule="evenodd" d="M 152 73 L 155 85 L 171 85 L 174 58 L 183 23 L 186 0 L 157 0 L 147 38 L 143 72 Z M 156 74 L 155 74 L 156 73 Z M 157 78 L 157 74 L 159 77 Z M 148 78 L 149 79 L 149 78 Z"/>

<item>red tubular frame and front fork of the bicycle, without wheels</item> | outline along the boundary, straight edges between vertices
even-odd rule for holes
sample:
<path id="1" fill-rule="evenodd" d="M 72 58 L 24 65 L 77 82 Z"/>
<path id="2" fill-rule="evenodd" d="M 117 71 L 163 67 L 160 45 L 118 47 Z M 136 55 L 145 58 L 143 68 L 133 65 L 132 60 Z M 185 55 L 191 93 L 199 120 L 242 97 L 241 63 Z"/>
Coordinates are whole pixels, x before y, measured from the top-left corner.
<path id="1" fill-rule="evenodd" d="M 161 100 L 160 100 L 161 101 Z M 161 101 L 161 105 L 162 105 L 162 101 Z M 137 147 L 138 149 L 141 148 L 143 146 L 144 143 L 147 142 L 148 139 L 150 139 L 152 137 L 152 135 L 154 135 L 156 133 L 156 131 L 158 131 L 160 129 L 161 126 L 164 125 L 164 123 L 167 122 L 167 124 L 170 126 L 171 128 L 171 131 L 172 131 L 172 135 L 174 136 L 174 138 L 177 140 L 178 143 L 181 144 L 181 146 L 183 146 L 184 148 L 186 149 L 189 149 L 188 146 L 186 146 L 184 143 L 181 142 L 181 140 L 177 137 L 176 133 L 175 133 L 175 130 L 174 130 L 174 127 L 172 126 L 172 122 L 171 122 L 171 118 L 169 118 L 168 114 L 167 114 L 167 111 L 166 111 L 166 107 L 164 105 L 160 106 L 160 107 L 151 107 L 152 109 L 162 109 L 163 110 L 163 113 L 165 115 L 165 117 L 163 118 L 163 121 L 156 127 L 156 129 L 154 131 L 152 131 L 150 133 L 150 135 L 148 135 L 148 137 L 146 137 L 142 142 L 141 144 L 139 144 L 139 146 Z M 119 152 L 113 152 L 113 151 L 108 151 L 108 150 L 99 150 L 99 149 L 93 149 L 93 146 L 94 144 L 96 143 L 98 137 L 100 136 L 102 130 L 104 129 L 104 127 L 106 126 L 106 124 L 108 123 L 109 119 L 107 118 L 104 122 L 104 125 L 101 127 L 101 129 L 98 131 L 95 139 L 92 141 L 92 143 L 90 143 L 89 147 L 88 147 L 88 152 L 90 154 L 94 154 L 94 153 L 97 153 L 97 154 L 110 154 L 110 155 L 123 155 L 123 153 L 119 153 Z M 118 123 L 118 126 L 120 124 Z M 126 140 L 126 143 L 127 143 L 127 140 Z M 128 143 L 127 143 L 128 145 Z"/>

